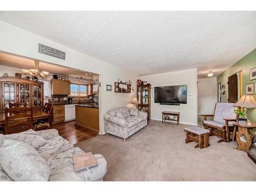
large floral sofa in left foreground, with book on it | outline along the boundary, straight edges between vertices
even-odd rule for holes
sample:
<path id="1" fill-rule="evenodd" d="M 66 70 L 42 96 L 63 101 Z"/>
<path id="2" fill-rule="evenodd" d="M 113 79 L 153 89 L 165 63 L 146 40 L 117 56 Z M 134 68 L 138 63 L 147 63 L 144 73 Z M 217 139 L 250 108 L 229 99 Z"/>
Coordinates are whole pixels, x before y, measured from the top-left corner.
<path id="1" fill-rule="evenodd" d="M 73 156 L 84 153 L 80 148 L 74 147 L 66 139 L 59 136 L 58 131 L 42 130 L 36 133 L 46 140 L 46 144 L 36 148 L 36 152 L 44 158 L 50 167 L 49 181 L 102 181 L 106 174 L 106 160 L 101 154 L 94 154 L 98 166 L 76 173 L 74 170 Z M 19 133 L 20 135 L 33 134 L 33 130 Z M 36 134 L 36 135 L 37 135 Z M 14 135 L 14 134 L 11 134 Z M 38 136 L 37 135 L 37 136 Z M 10 135 L 9 135 L 10 136 Z M 6 135 L 0 134 L 0 148 L 7 139 Z M 15 152 L 15 149 L 14 149 Z M 0 181 L 13 181 L 0 164 Z"/>

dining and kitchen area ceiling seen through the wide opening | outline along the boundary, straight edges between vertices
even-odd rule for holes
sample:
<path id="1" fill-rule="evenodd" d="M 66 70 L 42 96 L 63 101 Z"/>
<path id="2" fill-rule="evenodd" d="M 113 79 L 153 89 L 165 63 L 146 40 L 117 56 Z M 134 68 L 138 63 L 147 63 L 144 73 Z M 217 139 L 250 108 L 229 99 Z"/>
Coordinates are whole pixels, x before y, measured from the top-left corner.
<path id="1" fill-rule="evenodd" d="M 10 55 L 0 52 L 0 65 L 15 67 L 20 69 L 34 69 L 35 64 L 33 59 L 23 58 L 15 55 Z M 40 71 L 48 71 L 52 74 L 69 75 L 71 77 L 83 77 L 87 79 L 93 79 L 93 75 L 86 75 L 86 72 L 65 68 L 60 66 L 51 65 L 45 62 L 39 62 Z M 22 72 L 20 70 L 20 72 Z"/>

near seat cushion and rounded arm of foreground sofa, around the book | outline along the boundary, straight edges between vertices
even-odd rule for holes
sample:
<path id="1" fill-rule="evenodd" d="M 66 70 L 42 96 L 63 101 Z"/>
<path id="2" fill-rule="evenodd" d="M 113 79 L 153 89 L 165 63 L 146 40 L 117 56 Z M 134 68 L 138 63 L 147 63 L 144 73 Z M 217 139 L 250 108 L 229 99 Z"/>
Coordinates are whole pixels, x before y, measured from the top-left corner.
<path id="1" fill-rule="evenodd" d="M 74 170 L 73 156 L 84 153 L 75 147 L 47 159 L 51 169 L 50 181 L 98 181 L 106 174 L 106 160 L 101 154 L 94 154 L 98 166 L 76 173 Z"/>

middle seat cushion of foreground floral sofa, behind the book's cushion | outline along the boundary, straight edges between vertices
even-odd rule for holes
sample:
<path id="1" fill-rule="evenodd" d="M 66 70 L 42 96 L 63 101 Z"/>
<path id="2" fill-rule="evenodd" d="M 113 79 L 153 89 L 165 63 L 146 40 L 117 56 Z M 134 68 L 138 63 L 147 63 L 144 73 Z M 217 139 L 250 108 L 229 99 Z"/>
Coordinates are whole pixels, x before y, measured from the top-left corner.
<path id="1" fill-rule="evenodd" d="M 53 137 L 47 140 L 47 144 L 37 148 L 37 152 L 45 159 L 48 159 L 54 155 L 65 152 L 70 148 L 74 148 L 74 145 L 61 136 Z"/>

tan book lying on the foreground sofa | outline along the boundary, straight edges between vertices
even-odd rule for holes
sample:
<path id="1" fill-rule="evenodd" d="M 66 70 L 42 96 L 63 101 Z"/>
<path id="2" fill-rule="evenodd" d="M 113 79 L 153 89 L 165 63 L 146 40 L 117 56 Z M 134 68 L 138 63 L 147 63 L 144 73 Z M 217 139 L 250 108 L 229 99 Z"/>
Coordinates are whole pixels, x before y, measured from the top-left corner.
<path id="1" fill-rule="evenodd" d="M 98 163 L 93 156 L 92 152 L 74 155 L 74 166 L 75 166 L 75 172 L 82 172 L 83 170 L 87 170 L 87 168 L 92 168 L 95 166 L 98 166 Z"/>

